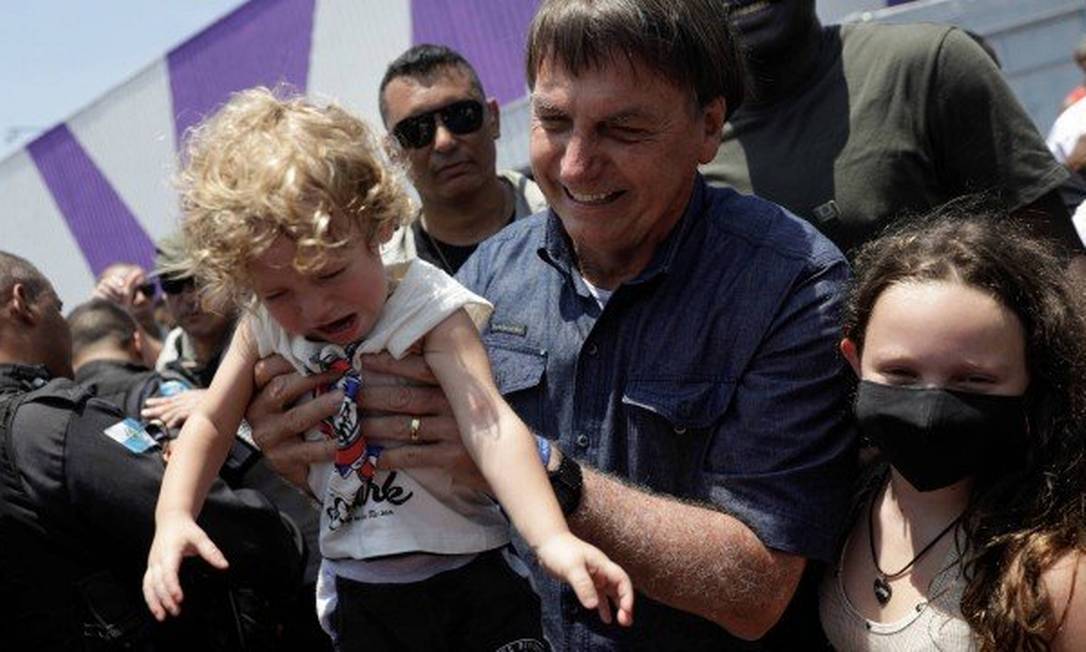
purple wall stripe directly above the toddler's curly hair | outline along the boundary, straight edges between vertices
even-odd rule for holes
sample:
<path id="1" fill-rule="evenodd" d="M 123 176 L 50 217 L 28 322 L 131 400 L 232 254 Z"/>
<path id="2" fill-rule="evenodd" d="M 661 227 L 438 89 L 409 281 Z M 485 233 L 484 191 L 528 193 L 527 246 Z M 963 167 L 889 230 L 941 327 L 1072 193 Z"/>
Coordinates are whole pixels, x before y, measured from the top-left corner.
<path id="1" fill-rule="evenodd" d="M 166 55 L 176 142 L 236 90 L 305 90 L 315 0 L 251 0 Z"/>

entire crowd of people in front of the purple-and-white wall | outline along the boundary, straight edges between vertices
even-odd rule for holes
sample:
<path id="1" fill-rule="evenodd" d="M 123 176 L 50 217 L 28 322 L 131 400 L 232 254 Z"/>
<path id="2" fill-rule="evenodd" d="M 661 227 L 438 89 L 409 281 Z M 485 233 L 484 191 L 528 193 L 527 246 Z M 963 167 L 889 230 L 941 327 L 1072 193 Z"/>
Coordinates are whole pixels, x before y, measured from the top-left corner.
<path id="1" fill-rule="evenodd" d="M 975 35 L 543 0 L 526 71 L 530 173 L 421 45 L 384 139 L 231 96 L 66 319 L 0 252 L 4 649 L 1083 649 L 1081 168 Z"/>

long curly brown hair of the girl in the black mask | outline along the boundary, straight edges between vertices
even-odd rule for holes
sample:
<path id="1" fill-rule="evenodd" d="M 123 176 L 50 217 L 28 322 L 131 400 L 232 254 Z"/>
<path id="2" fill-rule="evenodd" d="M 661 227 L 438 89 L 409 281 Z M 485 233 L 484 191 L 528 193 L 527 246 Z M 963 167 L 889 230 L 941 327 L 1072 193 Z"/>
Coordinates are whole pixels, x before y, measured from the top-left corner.
<path id="1" fill-rule="evenodd" d="M 844 331 L 862 350 L 883 290 L 925 280 L 988 292 L 1021 319 L 1030 369 L 1026 442 L 976 478 L 962 518 L 961 611 L 981 650 L 1047 650 L 1063 613 L 1053 613 L 1043 575 L 1086 550 L 1083 289 L 1052 244 L 981 202 L 945 206 L 864 246 Z"/>

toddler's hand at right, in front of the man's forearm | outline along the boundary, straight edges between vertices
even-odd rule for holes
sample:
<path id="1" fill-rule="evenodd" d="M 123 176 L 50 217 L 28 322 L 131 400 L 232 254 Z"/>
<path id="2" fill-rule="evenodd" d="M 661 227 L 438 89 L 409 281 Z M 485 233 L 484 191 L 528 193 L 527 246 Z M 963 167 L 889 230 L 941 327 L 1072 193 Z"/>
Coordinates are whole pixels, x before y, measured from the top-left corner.
<path id="1" fill-rule="evenodd" d="M 585 609 L 598 611 L 601 620 L 611 622 L 614 602 L 618 624 L 629 627 L 633 623 L 630 576 L 598 548 L 564 532 L 544 541 L 535 555 L 547 573 L 572 587 Z"/>

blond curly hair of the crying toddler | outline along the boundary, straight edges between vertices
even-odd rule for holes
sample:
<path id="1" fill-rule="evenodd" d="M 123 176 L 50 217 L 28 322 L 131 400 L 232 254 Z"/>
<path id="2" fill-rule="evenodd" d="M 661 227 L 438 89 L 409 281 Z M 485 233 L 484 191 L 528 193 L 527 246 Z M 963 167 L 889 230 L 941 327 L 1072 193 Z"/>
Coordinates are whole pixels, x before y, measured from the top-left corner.
<path id="1" fill-rule="evenodd" d="M 334 105 L 258 87 L 192 128 L 177 185 L 186 261 L 214 303 L 252 298 L 249 265 L 280 235 L 300 272 L 363 237 L 376 246 L 412 215 L 401 174 L 372 131 Z"/>

